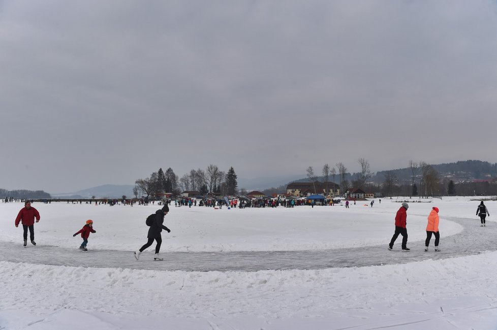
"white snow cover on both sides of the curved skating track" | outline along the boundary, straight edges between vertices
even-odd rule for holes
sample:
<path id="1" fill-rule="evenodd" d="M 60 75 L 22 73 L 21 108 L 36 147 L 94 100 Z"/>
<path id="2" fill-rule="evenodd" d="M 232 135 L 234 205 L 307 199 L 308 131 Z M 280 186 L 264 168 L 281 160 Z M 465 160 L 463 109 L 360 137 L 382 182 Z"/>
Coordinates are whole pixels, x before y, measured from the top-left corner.
<path id="1" fill-rule="evenodd" d="M 420 252 L 426 217 L 440 208 L 440 247 L 444 239 L 479 227 L 478 201 L 444 197 L 409 203 L 409 254 Z M 361 268 L 242 271 L 157 271 L 140 269 L 153 262 L 152 245 L 138 269 L 85 265 L 84 253 L 133 251 L 146 242 L 145 218 L 159 206 L 34 203 L 37 246 L 22 247 L 22 228 L 14 226 L 21 203 L 0 204 L 0 243 L 19 249 L 18 262 L 0 257 L 0 329 L 497 329 L 497 252 L 485 239 L 472 244 L 484 253 L 402 263 L 408 253 L 388 251 L 397 199 L 345 206 L 293 209 L 170 208 L 161 254 L 178 252 L 298 251 L 384 246 L 398 263 Z M 419 201 L 419 200 L 417 200 Z M 423 200 L 426 202 L 426 200 Z M 497 202 L 485 202 L 488 240 L 495 239 Z M 73 237 L 94 220 L 88 252 Z M 462 222 L 461 222 L 462 223 Z M 433 246 L 433 240 L 431 247 Z M 401 237 L 395 249 L 400 249 Z M 467 243 L 465 243 L 467 244 Z M 50 247 L 47 247 L 50 246 Z M 81 257 L 80 267 L 23 263 L 25 253 L 43 249 Z M 73 250 L 74 249 L 74 250 Z M 68 252 L 65 252 L 68 251 Z M 447 253 L 447 251 L 444 251 Z M 436 253 L 431 249 L 430 252 Z M 351 256 L 353 257 L 353 256 Z M 107 265 L 106 265 L 107 261 Z"/>

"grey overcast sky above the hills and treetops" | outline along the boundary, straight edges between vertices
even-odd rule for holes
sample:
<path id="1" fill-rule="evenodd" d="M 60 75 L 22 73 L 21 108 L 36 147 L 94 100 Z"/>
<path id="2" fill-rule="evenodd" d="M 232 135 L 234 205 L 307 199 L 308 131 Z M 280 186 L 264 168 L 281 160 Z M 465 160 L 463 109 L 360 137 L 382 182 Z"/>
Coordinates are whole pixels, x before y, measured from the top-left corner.
<path id="1" fill-rule="evenodd" d="M 496 162 L 494 1 L 1 1 L 0 188 Z"/>

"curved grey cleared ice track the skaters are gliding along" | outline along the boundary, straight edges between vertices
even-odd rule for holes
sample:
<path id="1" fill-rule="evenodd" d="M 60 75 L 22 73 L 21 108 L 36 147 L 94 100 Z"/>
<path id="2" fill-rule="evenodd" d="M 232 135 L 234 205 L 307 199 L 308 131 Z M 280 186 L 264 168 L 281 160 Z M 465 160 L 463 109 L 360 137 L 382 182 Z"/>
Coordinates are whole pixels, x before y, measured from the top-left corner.
<path id="1" fill-rule="evenodd" d="M 424 241 L 408 241 L 410 252 L 400 251 L 399 236 L 394 250 L 387 249 L 391 233 L 386 233 L 382 246 L 358 247 L 332 250 L 312 251 L 257 251 L 257 252 L 161 252 L 164 261 L 154 261 L 154 244 L 144 251 L 140 260 L 135 260 L 133 251 L 90 250 L 83 252 L 77 248 L 60 248 L 28 243 L 22 244 L 0 242 L 2 254 L 0 260 L 11 262 L 28 262 L 43 265 L 96 267 L 96 268 L 131 268 L 144 270 L 168 271 L 248 271 L 289 270 L 289 269 L 324 269 L 344 267 L 364 267 L 374 265 L 391 265 L 426 259 L 445 259 L 464 255 L 479 254 L 484 251 L 497 250 L 497 224 L 487 223 L 480 227 L 480 221 L 467 218 L 446 218 L 461 224 L 464 230 L 459 234 L 444 237 L 441 233 L 441 252 L 433 251 L 434 237 L 431 238 L 430 251 L 424 252 Z M 409 233 L 409 226 L 408 226 Z M 41 242 L 40 242 L 41 243 Z"/>

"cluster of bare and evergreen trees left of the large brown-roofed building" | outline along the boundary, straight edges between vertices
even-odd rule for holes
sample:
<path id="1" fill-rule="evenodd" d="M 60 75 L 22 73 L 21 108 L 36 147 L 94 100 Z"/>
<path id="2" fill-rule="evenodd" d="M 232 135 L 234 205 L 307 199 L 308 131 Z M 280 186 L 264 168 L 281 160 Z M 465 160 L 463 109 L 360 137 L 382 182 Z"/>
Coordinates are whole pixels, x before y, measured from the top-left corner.
<path id="1" fill-rule="evenodd" d="M 217 165 L 209 164 L 205 169 L 190 170 L 181 178 L 171 168 L 166 172 L 159 169 L 145 179 L 135 181 L 133 194 L 141 193 L 145 197 L 158 196 L 163 193 L 179 195 L 182 191 L 197 191 L 200 195 L 219 193 L 221 195 L 235 195 L 237 193 L 237 175 L 233 167 L 228 172 L 221 171 Z"/>

